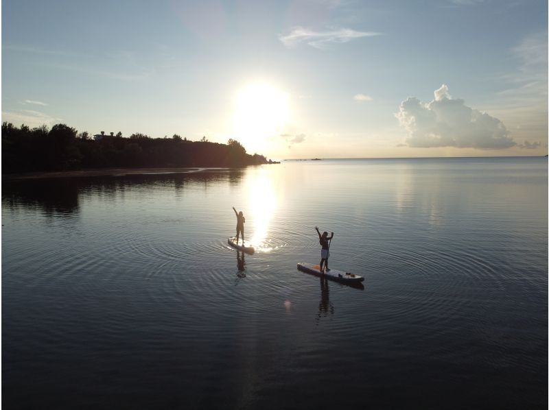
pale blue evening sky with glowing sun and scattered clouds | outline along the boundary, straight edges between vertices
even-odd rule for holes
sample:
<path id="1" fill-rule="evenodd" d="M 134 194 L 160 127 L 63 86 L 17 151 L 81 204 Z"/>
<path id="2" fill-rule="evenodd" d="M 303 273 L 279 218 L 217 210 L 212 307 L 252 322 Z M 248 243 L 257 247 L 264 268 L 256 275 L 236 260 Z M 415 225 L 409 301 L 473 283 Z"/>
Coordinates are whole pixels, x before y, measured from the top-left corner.
<path id="1" fill-rule="evenodd" d="M 548 152 L 546 0 L 3 0 L 2 121 L 272 159 Z"/>

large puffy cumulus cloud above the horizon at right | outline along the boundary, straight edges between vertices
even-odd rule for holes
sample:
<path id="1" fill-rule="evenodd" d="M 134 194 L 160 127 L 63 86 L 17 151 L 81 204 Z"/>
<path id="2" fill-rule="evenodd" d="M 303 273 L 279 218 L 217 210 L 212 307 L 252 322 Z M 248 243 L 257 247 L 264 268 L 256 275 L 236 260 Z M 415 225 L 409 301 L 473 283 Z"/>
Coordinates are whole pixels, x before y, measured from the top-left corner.
<path id="1" fill-rule="evenodd" d="M 499 119 L 467 107 L 463 99 L 452 99 L 445 84 L 430 103 L 415 97 L 402 101 L 395 116 L 408 132 L 410 147 L 504 149 L 517 145 Z"/>

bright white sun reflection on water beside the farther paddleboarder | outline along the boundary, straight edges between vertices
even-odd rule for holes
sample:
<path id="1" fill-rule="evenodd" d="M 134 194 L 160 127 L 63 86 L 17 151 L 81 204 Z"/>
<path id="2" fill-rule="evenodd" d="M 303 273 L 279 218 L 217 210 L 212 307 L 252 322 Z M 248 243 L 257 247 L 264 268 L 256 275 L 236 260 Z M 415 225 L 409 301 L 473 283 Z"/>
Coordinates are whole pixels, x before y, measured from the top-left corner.
<path id="1" fill-rule="evenodd" d="M 270 221 L 277 208 L 277 196 L 272 181 L 265 172 L 259 173 L 248 187 L 250 212 L 253 219 L 251 242 L 257 250 L 270 252 L 273 248 L 267 241 Z"/>

